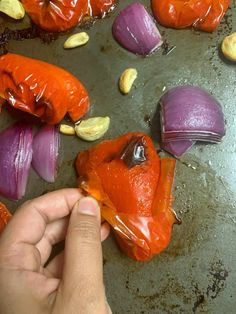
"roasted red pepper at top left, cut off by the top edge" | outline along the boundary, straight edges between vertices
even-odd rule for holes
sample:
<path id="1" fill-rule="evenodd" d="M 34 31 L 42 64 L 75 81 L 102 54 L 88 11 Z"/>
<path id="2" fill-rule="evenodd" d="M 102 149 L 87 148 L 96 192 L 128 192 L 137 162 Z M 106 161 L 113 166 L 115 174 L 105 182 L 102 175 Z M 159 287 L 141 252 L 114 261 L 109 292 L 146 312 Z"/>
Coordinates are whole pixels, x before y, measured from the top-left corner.
<path id="1" fill-rule="evenodd" d="M 103 17 L 116 0 L 21 0 L 40 28 L 51 32 L 68 30 L 85 16 Z"/>

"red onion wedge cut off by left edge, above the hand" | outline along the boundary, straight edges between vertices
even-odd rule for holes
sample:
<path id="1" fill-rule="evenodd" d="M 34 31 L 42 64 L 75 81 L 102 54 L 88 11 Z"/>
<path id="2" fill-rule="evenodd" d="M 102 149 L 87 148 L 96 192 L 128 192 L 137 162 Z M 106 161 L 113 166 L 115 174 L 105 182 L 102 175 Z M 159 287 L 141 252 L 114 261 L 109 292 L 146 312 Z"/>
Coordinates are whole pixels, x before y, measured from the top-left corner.
<path id="1" fill-rule="evenodd" d="M 23 122 L 0 133 L 0 193 L 18 200 L 25 194 L 32 160 L 32 128 Z"/>

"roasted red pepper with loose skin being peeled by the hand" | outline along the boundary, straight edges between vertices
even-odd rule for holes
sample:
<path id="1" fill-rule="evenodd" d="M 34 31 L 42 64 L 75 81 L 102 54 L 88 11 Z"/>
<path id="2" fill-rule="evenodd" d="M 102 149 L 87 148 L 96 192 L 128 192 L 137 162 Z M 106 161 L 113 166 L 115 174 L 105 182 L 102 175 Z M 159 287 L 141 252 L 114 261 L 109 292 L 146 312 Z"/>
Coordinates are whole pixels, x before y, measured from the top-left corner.
<path id="1" fill-rule="evenodd" d="M 79 186 L 101 204 L 121 249 L 145 261 L 170 242 L 177 218 L 171 208 L 175 160 L 160 159 L 151 139 L 128 133 L 81 152 Z"/>

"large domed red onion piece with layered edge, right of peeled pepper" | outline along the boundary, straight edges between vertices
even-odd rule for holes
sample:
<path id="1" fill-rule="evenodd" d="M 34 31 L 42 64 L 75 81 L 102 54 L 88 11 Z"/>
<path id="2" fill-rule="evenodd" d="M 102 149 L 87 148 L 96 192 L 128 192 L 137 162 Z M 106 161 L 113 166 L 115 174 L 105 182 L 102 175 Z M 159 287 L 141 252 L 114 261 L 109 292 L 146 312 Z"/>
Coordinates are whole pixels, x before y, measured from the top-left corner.
<path id="1" fill-rule="evenodd" d="M 219 102 L 197 86 L 178 86 L 160 101 L 163 148 L 179 157 L 195 141 L 218 143 L 225 135 Z"/>

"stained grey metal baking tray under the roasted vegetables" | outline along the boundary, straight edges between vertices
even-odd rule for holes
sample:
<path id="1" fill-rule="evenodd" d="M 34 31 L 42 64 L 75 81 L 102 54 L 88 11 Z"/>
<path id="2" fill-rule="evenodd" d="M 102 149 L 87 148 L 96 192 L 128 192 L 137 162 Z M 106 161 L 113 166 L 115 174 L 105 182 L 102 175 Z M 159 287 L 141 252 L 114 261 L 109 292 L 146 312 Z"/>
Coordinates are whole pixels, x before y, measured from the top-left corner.
<path id="1" fill-rule="evenodd" d="M 227 135 L 222 144 L 199 144 L 178 161 L 174 208 L 182 225 L 174 226 L 169 248 L 149 263 L 138 263 L 124 256 L 110 237 L 103 244 L 105 283 L 114 314 L 235 313 L 236 76 L 235 65 L 223 61 L 218 53 L 223 37 L 235 30 L 235 4 L 213 34 L 160 28 L 169 45 L 176 48 L 169 55 L 162 55 L 160 49 L 140 58 L 123 50 L 111 35 L 115 15 L 129 2 L 122 1 L 108 18 L 95 23 L 84 47 L 63 50 L 68 36 L 63 35 L 49 45 L 39 39 L 12 41 L 9 50 L 74 73 L 90 93 L 90 116 L 111 117 L 106 138 L 127 131 L 150 133 L 144 119 L 150 115 L 154 117 L 152 135 L 157 141 L 159 122 L 155 112 L 164 88 L 195 84 L 218 98 L 227 121 Z M 144 3 L 149 6 L 149 1 Z M 1 21 L 15 28 L 27 25 L 27 21 L 24 25 L 6 23 L 3 18 Z M 126 67 L 136 68 L 139 76 L 132 92 L 122 96 L 117 81 Z M 13 119 L 14 113 L 1 114 L 0 129 Z M 75 186 L 74 159 L 78 151 L 91 145 L 62 136 L 63 161 L 56 183 L 47 184 L 32 171 L 23 200 L 1 200 L 13 211 L 45 191 Z"/>

